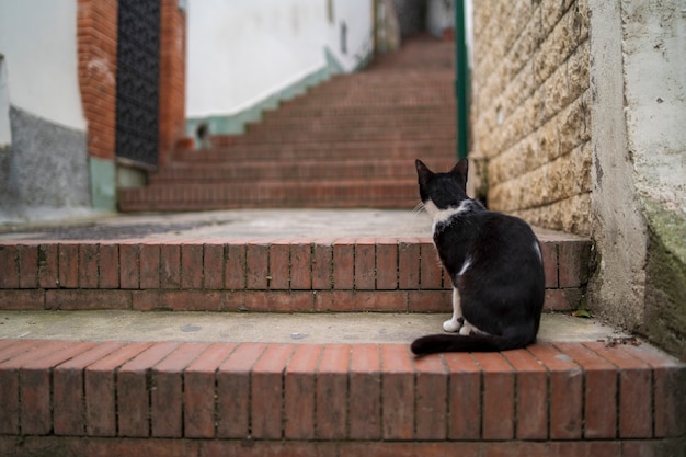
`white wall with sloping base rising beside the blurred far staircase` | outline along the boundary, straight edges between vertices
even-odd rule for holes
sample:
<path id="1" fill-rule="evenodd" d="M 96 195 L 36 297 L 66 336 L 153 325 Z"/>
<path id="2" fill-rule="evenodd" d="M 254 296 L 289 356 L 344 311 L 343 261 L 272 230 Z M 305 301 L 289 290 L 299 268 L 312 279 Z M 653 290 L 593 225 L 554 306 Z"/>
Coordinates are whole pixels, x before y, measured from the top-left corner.
<path id="1" fill-rule="evenodd" d="M 332 71 L 355 69 L 373 50 L 371 3 L 188 1 L 190 130 L 204 121 L 214 133 L 240 132 L 263 108 L 275 107 Z"/>

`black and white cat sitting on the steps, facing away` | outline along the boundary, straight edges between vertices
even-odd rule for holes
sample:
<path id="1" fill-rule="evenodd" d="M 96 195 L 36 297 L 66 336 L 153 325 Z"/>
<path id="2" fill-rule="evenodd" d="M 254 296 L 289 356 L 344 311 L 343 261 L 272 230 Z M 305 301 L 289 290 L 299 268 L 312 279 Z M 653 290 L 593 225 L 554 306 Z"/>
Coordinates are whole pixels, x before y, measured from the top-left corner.
<path id="1" fill-rule="evenodd" d="M 544 306 L 540 244 L 522 219 L 487 210 L 467 196 L 469 162 L 434 173 L 416 160 L 420 196 L 433 218 L 434 244 L 453 281 L 446 332 L 412 343 L 414 354 L 490 352 L 536 341 Z"/>

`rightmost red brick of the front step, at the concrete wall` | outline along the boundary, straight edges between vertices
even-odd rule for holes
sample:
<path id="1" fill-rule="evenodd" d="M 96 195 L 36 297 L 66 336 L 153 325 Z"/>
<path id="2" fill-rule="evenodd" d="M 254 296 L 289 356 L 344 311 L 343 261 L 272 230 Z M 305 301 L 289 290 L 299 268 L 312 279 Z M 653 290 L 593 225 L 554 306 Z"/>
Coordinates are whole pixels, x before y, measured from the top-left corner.
<path id="1" fill-rule="evenodd" d="M 655 437 L 686 434 L 686 365 L 648 345 L 622 345 L 620 349 L 653 368 L 653 412 Z"/>

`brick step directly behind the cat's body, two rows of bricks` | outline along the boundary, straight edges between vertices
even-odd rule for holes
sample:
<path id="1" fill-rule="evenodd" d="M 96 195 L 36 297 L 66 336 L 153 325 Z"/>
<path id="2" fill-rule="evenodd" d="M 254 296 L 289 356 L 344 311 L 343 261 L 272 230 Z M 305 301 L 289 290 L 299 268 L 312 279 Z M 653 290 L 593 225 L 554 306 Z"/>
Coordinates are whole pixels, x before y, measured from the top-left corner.
<path id="1" fill-rule="evenodd" d="M 430 238 L 0 241 L 0 309 L 446 312 L 451 286 Z M 116 231 L 115 231 L 116 233 Z M 576 309 L 591 242 L 539 233 L 546 309 Z"/>

